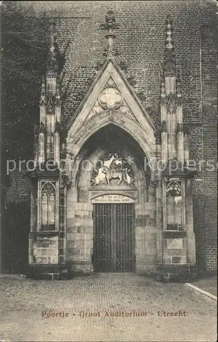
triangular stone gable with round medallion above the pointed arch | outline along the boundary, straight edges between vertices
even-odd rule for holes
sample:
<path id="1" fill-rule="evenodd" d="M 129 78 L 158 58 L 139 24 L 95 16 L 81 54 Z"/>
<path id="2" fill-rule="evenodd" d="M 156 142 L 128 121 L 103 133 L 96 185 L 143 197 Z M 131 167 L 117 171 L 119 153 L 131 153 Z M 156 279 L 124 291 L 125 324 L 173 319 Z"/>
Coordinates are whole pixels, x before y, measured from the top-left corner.
<path id="1" fill-rule="evenodd" d="M 113 111 L 119 114 L 121 119 L 127 116 L 137 122 L 149 135 L 154 135 L 152 120 L 112 56 L 105 61 L 99 75 L 77 109 L 74 120 L 69 122 L 69 135 L 72 137 L 87 120 L 105 111 L 109 114 Z"/>

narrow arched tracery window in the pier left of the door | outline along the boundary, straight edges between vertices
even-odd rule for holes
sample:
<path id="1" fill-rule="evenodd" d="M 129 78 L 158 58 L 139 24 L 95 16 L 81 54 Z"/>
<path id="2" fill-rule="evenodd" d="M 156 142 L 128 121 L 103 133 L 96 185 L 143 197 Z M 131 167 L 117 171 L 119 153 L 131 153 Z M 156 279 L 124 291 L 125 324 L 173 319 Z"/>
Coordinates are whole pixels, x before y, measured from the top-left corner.
<path id="1" fill-rule="evenodd" d="M 55 185 L 50 182 L 42 185 L 41 230 L 55 231 Z"/>

